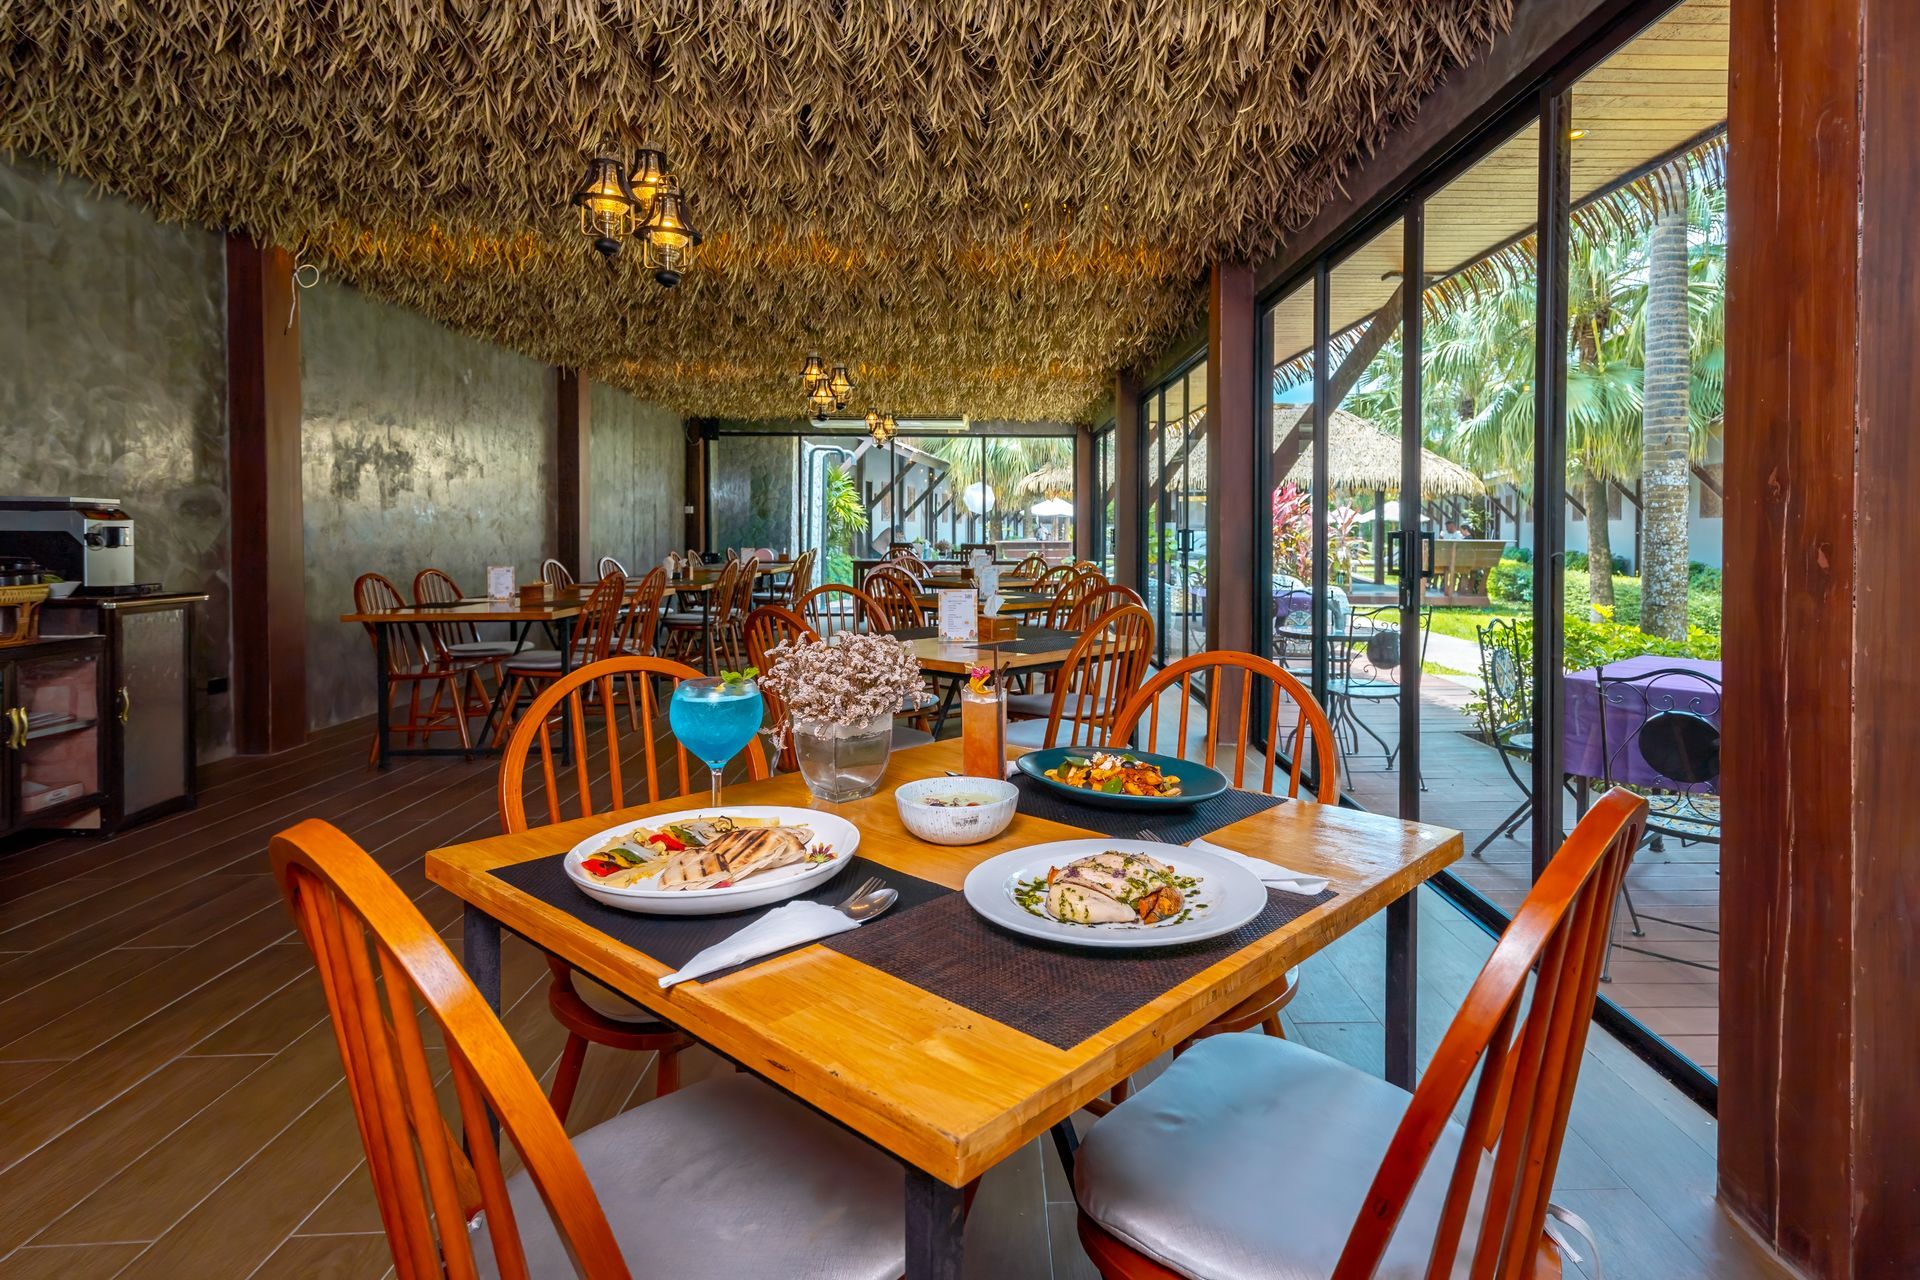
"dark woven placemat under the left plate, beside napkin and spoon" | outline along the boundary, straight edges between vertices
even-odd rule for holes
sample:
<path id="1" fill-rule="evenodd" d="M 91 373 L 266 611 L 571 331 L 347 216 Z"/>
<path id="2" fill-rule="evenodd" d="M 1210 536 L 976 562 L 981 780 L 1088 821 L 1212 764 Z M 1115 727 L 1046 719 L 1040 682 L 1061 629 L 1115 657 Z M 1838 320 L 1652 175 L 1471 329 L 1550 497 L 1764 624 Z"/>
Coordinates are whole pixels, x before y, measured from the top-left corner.
<path id="1" fill-rule="evenodd" d="M 595 902 L 580 892 L 580 887 L 566 875 L 566 854 L 536 858 L 534 862 L 518 862 L 511 867 L 495 869 L 493 875 L 524 894 L 540 898 L 549 906 L 557 906 L 580 923 L 599 929 L 607 936 L 632 946 L 636 952 L 643 952 L 653 960 L 659 960 L 668 969 L 678 969 L 714 942 L 735 935 L 774 908 L 785 906 L 783 902 L 774 902 L 772 906 L 758 906 L 747 912 L 728 912 L 724 915 L 639 915 L 636 912 L 616 912 L 614 908 Z M 854 854 L 847 860 L 847 865 L 833 875 L 833 879 L 814 885 L 810 890 L 787 898 L 787 902 L 835 904 L 870 875 L 877 875 L 889 887 L 900 890 L 900 902 L 893 908 L 895 912 L 910 910 L 952 894 L 952 890 L 943 885 L 883 867 L 877 862 L 868 862 L 866 858 Z M 799 946 L 812 944 L 801 942 Z M 799 950 L 799 946 L 789 946 L 781 952 L 774 952 L 772 956 L 751 960 L 745 965 L 733 965 L 732 969 L 710 973 L 703 981 L 710 983 L 724 973 L 737 973 L 739 969 L 762 963 L 774 956 L 785 956 L 787 952 Z"/>

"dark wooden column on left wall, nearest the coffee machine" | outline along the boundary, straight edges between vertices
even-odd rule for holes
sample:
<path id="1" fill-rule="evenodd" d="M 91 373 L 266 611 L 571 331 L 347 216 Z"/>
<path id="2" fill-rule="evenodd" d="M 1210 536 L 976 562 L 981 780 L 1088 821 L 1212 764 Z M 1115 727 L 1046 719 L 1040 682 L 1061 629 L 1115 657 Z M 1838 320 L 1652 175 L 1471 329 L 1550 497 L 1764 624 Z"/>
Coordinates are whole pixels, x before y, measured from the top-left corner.
<path id="1" fill-rule="evenodd" d="M 259 756 L 307 741 L 307 555 L 294 259 L 244 236 L 227 236 L 227 478 L 234 747 Z"/>

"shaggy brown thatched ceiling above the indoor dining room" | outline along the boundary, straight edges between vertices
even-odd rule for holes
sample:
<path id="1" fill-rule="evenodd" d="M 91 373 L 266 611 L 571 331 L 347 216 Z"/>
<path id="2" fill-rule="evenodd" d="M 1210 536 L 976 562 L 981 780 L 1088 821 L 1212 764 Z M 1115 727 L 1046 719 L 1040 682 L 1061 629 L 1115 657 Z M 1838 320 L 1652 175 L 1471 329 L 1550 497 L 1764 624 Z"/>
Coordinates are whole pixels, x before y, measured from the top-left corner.
<path id="1" fill-rule="evenodd" d="M 808 349 L 899 415 L 1075 418 L 1511 0 L 0 4 L 0 148 L 716 416 Z M 705 259 L 566 196 L 664 140 Z"/>

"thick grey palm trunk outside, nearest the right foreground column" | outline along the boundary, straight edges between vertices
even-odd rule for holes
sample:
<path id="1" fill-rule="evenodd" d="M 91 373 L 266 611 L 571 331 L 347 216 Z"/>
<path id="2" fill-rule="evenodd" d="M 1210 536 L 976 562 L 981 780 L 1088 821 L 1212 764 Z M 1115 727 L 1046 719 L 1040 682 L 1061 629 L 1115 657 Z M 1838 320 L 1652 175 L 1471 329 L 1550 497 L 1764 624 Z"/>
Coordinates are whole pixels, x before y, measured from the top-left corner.
<path id="1" fill-rule="evenodd" d="M 1686 637 L 1692 376 L 1686 232 L 1686 188 L 1680 186 L 1647 238 L 1647 355 L 1642 378 L 1640 629 L 1667 639 Z"/>

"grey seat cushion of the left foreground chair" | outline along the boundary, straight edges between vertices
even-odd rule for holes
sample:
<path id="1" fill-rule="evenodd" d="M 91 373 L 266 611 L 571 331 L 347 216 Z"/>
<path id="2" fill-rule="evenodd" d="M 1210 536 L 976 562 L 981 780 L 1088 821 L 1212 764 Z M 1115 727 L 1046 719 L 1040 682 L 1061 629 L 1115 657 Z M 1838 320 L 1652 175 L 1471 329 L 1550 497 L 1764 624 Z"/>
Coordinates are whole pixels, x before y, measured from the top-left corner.
<path id="1" fill-rule="evenodd" d="M 636 1276 L 899 1280 L 900 1167 L 770 1084 L 728 1075 L 622 1111 L 574 1150 Z M 536 1280 L 574 1276 L 532 1178 L 507 1180 Z M 484 1219 L 482 1276 L 499 1276 Z"/>

